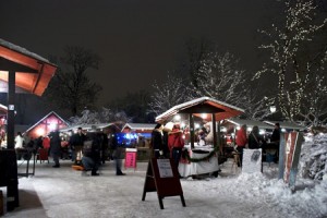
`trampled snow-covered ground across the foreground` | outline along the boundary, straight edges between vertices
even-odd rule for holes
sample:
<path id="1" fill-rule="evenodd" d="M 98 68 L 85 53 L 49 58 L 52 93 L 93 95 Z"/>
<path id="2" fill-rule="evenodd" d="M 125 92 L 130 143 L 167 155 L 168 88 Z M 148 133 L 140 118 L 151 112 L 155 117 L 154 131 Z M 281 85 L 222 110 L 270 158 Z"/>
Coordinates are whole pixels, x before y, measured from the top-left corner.
<path id="1" fill-rule="evenodd" d="M 305 146 L 313 142 L 307 138 Z M 81 177 L 70 161 L 59 169 L 37 164 L 35 177 L 20 179 L 21 207 L 4 217 L 327 217 L 327 181 L 298 177 L 292 193 L 277 180 L 275 164 L 265 164 L 264 173 L 247 174 L 232 169 L 229 159 L 218 178 L 181 179 L 186 207 L 173 196 L 164 198 L 165 209 L 155 192 L 142 201 L 146 168 L 146 162 L 138 162 L 135 171 L 117 177 L 110 161 L 100 177 Z"/>

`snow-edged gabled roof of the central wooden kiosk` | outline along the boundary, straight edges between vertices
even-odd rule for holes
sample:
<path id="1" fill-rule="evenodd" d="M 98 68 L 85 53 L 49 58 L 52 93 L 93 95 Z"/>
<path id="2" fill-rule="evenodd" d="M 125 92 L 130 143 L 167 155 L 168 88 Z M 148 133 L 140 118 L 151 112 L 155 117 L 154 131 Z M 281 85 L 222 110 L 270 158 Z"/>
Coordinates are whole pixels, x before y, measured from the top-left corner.
<path id="1" fill-rule="evenodd" d="M 227 118 L 231 118 L 231 117 L 237 117 L 244 112 L 243 109 L 238 108 L 232 105 L 229 105 L 227 102 L 216 100 L 216 99 L 209 98 L 209 97 L 201 97 L 201 98 L 196 98 L 196 99 L 193 99 L 193 100 L 190 100 L 190 101 L 186 101 L 186 102 L 183 102 L 183 104 L 180 104 L 180 105 L 177 105 L 177 106 L 170 108 L 162 114 L 158 116 L 156 118 L 156 122 L 164 121 L 164 120 L 168 119 L 169 117 L 174 116 L 175 113 L 178 113 L 181 110 L 196 107 L 197 105 L 210 105 L 211 107 L 221 109 L 222 110 L 221 112 L 216 113 L 216 120 L 222 120 L 222 119 L 227 119 Z"/>

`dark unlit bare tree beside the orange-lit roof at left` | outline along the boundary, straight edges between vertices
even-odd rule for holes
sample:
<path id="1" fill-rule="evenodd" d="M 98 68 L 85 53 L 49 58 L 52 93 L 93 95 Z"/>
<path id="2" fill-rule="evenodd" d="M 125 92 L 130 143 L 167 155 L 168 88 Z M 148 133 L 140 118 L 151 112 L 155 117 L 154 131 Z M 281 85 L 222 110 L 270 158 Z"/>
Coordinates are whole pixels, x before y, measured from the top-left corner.
<path id="1" fill-rule="evenodd" d="M 49 101 L 71 110 L 76 116 L 85 108 L 92 108 L 101 90 L 100 85 L 93 83 L 86 75 L 89 69 L 98 69 L 100 58 L 82 47 L 66 46 L 64 55 L 53 60 L 59 69 L 45 96 Z"/>

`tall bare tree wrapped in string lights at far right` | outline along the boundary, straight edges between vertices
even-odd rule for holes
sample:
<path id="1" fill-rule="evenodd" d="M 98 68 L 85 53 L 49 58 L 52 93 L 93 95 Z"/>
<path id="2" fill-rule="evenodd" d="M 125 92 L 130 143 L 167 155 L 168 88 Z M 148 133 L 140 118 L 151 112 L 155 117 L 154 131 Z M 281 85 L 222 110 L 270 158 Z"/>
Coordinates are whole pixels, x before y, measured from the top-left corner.
<path id="1" fill-rule="evenodd" d="M 277 74 L 277 105 L 284 118 L 293 121 L 300 113 L 310 84 L 310 57 L 305 55 L 305 48 L 325 25 L 326 20 L 320 24 L 314 23 L 316 7 L 313 0 L 287 0 L 284 5 L 286 19 L 282 27 L 272 24 L 271 29 L 261 31 L 268 36 L 270 43 L 259 48 L 269 52 L 270 62 L 264 64 L 255 77 L 269 72 Z"/>

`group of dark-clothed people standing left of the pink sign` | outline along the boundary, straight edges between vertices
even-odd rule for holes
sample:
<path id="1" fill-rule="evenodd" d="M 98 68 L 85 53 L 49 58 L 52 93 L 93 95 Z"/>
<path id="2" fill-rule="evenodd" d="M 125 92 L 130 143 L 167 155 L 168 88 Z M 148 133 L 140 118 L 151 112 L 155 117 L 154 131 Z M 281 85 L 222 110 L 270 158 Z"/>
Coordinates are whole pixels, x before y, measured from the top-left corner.
<path id="1" fill-rule="evenodd" d="M 29 138 L 28 142 L 17 132 L 14 142 L 17 160 L 29 160 L 32 154 L 36 155 L 43 148 L 52 157 L 53 168 L 60 168 L 60 159 L 70 158 L 73 167 L 82 169 L 82 174 L 90 171 L 90 175 L 99 175 L 99 166 L 106 160 L 114 159 L 116 174 L 125 174 L 121 170 L 123 148 L 118 144 L 114 129 L 86 133 L 78 128 L 75 134 L 71 133 L 65 137 L 60 136 L 59 131 L 52 131 L 47 136 Z"/>

